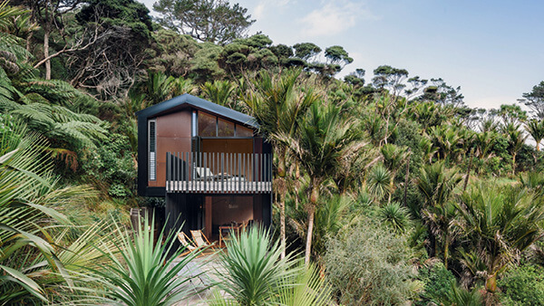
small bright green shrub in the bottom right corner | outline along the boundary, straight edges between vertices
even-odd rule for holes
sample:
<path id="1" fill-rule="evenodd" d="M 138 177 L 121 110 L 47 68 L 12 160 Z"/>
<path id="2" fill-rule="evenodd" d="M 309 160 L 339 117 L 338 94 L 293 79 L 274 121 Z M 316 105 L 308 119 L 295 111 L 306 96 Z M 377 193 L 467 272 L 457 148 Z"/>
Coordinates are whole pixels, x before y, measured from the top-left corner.
<path id="1" fill-rule="evenodd" d="M 500 301 L 505 305 L 544 305 L 544 269 L 522 265 L 499 281 Z"/>

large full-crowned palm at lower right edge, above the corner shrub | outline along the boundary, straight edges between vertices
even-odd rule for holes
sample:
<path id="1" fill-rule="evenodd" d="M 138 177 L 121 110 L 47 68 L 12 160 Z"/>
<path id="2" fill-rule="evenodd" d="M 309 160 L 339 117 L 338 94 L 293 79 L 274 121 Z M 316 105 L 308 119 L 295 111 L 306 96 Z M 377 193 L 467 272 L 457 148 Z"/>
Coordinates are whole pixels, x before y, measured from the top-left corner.
<path id="1" fill-rule="evenodd" d="M 540 238 L 544 207 L 527 189 L 480 185 L 463 193 L 456 209 L 468 247 L 486 266 L 486 289 L 495 292 L 498 274 Z"/>

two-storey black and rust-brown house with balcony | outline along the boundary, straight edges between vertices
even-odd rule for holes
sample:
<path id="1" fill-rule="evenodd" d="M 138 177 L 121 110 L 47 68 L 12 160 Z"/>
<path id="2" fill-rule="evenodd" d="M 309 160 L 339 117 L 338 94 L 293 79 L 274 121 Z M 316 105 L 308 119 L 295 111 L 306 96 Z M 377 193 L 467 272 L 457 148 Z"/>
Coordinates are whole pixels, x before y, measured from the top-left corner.
<path id="1" fill-rule="evenodd" d="M 167 229 L 271 224 L 271 146 L 257 121 L 189 94 L 138 116 L 138 193 L 165 196 Z"/>

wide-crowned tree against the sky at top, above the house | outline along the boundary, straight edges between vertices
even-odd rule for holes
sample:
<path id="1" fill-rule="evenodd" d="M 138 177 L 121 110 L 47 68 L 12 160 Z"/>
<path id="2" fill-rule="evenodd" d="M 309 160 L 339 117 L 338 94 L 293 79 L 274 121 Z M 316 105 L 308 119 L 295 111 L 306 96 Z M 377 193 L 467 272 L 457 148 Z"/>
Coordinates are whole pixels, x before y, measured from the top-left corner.
<path id="1" fill-rule="evenodd" d="M 160 24 L 200 42 L 232 42 L 255 22 L 247 8 L 224 0 L 159 0 L 153 9 Z"/>

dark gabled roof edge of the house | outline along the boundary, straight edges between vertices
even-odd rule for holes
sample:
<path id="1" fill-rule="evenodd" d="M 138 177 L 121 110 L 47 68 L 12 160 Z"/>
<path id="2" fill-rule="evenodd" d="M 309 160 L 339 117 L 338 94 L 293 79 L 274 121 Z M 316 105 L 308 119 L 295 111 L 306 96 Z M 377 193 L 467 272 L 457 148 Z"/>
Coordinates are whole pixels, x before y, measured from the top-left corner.
<path id="1" fill-rule="evenodd" d="M 255 118 L 241 113 L 237 110 L 231 110 L 219 104 L 210 102 L 209 100 L 200 99 L 199 97 L 195 97 L 193 95 L 190 95 L 189 93 L 182 94 L 170 100 L 165 100 L 163 102 L 160 102 L 159 104 L 150 106 L 147 109 L 139 110 L 136 112 L 136 115 L 138 117 L 150 118 L 163 111 L 170 110 L 183 104 L 188 104 L 200 110 L 206 110 L 215 115 L 219 115 L 231 120 L 236 120 L 239 123 L 246 124 L 255 129 L 259 128 L 259 125 Z"/>

